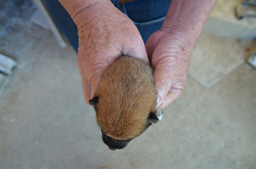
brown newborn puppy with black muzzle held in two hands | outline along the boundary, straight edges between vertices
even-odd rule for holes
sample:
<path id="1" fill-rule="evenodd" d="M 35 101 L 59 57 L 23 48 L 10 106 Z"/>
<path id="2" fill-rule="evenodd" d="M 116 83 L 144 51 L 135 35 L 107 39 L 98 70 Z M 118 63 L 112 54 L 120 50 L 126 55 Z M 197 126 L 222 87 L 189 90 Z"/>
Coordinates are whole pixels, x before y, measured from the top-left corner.
<path id="1" fill-rule="evenodd" d="M 156 108 L 153 70 L 142 59 L 121 56 L 101 75 L 94 97 L 102 140 L 110 150 L 123 149 L 162 118 Z"/>

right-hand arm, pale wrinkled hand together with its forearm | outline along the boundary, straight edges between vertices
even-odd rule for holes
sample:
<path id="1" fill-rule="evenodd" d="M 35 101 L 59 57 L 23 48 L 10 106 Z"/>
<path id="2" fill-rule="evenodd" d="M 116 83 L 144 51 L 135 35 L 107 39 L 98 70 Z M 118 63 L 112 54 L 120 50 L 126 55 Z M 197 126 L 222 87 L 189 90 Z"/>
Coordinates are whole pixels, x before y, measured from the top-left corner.
<path id="1" fill-rule="evenodd" d="M 172 0 L 159 31 L 146 42 L 154 71 L 157 106 L 167 107 L 184 91 L 190 57 L 218 0 Z"/>

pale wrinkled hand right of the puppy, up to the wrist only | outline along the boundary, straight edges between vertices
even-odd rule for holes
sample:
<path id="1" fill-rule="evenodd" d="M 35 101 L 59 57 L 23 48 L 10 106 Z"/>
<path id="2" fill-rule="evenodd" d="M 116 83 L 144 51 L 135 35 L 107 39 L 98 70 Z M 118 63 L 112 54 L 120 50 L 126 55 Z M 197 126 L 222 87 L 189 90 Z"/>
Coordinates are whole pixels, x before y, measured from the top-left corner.
<path id="1" fill-rule="evenodd" d="M 162 108 L 167 107 L 184 91 L 194 48 L 186 37 L 185 34 L 161 29 L 145 43 L 148 58 L 155 68 L 155 88 L 160 97 L 157 107 L 161 104 Z"/>

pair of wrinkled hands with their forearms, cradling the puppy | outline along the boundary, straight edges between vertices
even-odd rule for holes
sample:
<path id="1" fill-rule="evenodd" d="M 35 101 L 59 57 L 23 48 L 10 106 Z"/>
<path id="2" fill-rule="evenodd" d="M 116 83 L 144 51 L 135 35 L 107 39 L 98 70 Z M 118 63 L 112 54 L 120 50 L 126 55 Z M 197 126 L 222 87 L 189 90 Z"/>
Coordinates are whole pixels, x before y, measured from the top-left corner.
<path id="1" fill-rule="evenodd" d="M 172 0 L 162 29 L 145 45 L 134 23 L 109 0 L 59 0 L 78 28 L 78 68 L 85 101 L 116 58 L 151 60 L 158 104 L 167 107 L 184 91 L 195 42 L 217 0 Z"/>

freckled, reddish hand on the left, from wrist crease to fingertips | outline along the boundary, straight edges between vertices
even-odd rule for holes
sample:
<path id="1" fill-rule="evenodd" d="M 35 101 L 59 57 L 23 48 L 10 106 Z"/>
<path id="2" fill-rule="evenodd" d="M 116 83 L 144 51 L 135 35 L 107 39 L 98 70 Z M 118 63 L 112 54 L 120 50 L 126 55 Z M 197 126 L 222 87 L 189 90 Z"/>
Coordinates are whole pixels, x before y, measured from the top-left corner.
<path id="1" fill-rule="evenodd" d="M 91 5 L 74 16 L 78 28 L 78 68 L 85 101 L 94 96 L 101 74 L 121 55 L 148 56 L 135 24 L 109 0 Z"/>

